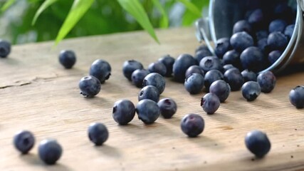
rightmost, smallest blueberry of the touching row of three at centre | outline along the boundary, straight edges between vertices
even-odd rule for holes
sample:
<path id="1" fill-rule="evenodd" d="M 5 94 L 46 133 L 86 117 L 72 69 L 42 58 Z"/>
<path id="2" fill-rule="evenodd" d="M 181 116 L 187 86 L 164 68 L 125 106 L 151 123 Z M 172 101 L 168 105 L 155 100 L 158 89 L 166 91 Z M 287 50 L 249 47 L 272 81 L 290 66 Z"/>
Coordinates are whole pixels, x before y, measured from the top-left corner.
<path id="1" fill-rule="evenodd" d="M 157 103 L 160 114 L 166 119 L 172 118 L 177 112 L 177 103 L 172 98 L 163 98 Z"/>

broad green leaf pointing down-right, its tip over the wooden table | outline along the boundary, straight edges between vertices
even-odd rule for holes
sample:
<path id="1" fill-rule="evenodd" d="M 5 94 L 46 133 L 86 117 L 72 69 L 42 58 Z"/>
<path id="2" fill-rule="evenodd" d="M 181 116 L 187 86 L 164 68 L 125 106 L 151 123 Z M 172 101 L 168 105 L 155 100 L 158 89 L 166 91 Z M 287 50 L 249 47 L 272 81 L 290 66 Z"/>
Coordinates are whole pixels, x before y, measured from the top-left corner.
<path id="1" fill-rule="evenodd" d="M 150 33 L 150 36 L 154 38 L 157 43 L 159 43 L 159 40 L 154 32 L 154 28 L 149 20 L 149 17 L 147 16 L 144 7 L 142 4 L 140 4 L 140 1 L 138 0 L 117 0 L 120 3 L 120 6 L 122 6 L 123 9 L 125 9 L 128 13 L 130 13 L 142 26 L 142 28 L 145 28 L 145 30 Z"/>

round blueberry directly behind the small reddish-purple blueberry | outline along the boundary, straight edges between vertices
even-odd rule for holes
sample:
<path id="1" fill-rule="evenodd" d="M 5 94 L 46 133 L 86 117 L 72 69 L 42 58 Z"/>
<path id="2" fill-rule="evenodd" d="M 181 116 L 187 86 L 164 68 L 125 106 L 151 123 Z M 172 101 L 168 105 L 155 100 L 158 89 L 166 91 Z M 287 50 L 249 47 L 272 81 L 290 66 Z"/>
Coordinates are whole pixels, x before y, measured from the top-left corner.
<path id="1" fill-rule="evenodd" d="M 214 81 L 211 83 L 209 92 L 217 95 L 219 101 L 223 103 L 230 94 L 230 86 L 228 83 L 222 80 Z"/>

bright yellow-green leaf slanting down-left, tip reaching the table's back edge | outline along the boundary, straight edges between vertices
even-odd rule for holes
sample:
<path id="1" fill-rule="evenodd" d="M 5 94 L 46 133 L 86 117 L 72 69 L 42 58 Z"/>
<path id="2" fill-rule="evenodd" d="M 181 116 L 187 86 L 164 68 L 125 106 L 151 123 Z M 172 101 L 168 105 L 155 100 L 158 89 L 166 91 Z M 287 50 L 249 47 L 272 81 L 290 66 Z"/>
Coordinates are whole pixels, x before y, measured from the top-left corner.
<path id="1" fill-rule="evenodd" d="M 75 24 L 78 23 L 85 12 L 90 9 L 93 2 L 94 0 L 75 0 L 73 2 L 73 6 L 68 13 L 68 17 L 65 19 L 63 26 L 61 26 L 56 37 L 56 45 L 70 32 Z"/>

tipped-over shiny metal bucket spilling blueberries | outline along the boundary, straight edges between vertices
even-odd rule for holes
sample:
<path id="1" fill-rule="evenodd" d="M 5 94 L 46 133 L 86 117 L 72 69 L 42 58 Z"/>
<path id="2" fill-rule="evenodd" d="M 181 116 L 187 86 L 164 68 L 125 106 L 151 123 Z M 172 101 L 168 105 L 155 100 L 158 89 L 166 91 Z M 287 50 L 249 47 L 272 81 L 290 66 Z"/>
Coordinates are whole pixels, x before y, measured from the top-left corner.
<path id="1" fill-rule="evenodd" d="M 274 0 L 273 0 L 274 1 Z M 219 38 L 231 37 L 232 28 L 236 21 L 243 19 L 244 10 L 248 3 L 257 3 L 258 0 L 210 0 L 209 16 L 196 21 L 196 38 L 204 41 L 211 53 L 214 53 L 214 43 Z M 271 3 L 271 1 L 261 1 Z M 290 6 L 296 9 L 295 29 L 288 46 L 278 60 L 263 71 L 278 73 L 293 63 L 304 63 L 304 33 L 303 11 L 304 0 L 290 0 Z"/>

